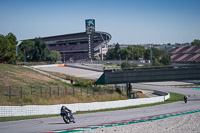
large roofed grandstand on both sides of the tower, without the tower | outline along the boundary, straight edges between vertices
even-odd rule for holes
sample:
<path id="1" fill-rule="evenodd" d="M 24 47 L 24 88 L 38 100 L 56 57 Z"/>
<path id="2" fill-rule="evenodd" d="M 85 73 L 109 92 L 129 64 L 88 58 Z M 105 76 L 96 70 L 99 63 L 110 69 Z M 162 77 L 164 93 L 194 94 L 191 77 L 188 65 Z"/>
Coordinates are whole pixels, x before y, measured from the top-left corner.
<path id="1" fill-rule="evenodd" d="M 65 34 L 58 36 L 42 37 L 42 40 L 51 50 L 56 50 L 62 55 L 62 61 L 88 59 L 88 35 L 86 32 Z M 107 43 L 111 35 L 106 32 L 94 33 L 94 56 L 100 58 L 108 48 Z M 102 52 L 104 49 L 104 52 Z"/>

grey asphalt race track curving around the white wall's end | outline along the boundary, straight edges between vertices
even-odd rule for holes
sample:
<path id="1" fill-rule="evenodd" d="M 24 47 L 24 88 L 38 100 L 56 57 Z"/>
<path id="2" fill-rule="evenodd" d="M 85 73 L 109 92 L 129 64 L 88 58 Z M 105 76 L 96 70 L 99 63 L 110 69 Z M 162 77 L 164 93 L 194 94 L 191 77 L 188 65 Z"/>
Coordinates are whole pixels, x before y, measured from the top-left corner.
<path id="1" fill-rule="evenodd" d="M 75 115 L 76 123 L 65 124 L 61 117 L 40 118 L 33 120 L 21 120 L 12 122 L 0 122 L 0 133 L 36 133 L 53 132 L 67 130 L 78 127 L 88 127 L 92 125 L 101 125 L 113 123 L 116 121 L 130 120 L 134 118 L 155 116 L 186 110 L 200 109 L 200 90 L 193 88 L 180 87 L 161 87 L 151 85 L 133 84 L 134 88 L 143 88 L 151 90 L 160 90 L 166 92 L 175 92 L 189 95 L 189 101 L 185 104 L 183 101 L 136 108 L 128 110 L 98 112 L 89 114 Z"/>

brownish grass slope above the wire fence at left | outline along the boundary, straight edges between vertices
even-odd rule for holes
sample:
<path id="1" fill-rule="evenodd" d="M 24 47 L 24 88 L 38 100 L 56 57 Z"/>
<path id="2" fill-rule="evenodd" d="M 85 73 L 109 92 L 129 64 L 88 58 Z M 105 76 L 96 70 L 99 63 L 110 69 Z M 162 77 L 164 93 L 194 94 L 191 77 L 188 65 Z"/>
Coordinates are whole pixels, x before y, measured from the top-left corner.
<path id="1" fill-rule="evenodd" d="M 0 88 L 12 87 L 49 87 L 52 85 L 66 85 L 55 79 L 31 69 L 17 65 L 0 64 Z"/>

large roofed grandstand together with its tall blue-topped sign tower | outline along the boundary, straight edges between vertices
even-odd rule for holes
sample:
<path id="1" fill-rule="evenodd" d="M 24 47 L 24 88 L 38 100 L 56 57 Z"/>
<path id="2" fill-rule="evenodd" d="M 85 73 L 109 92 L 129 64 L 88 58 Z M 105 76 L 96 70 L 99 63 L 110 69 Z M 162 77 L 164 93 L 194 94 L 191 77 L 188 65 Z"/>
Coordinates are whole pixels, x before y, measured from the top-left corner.
<path id="1" fill-rule="evenodd" d="M 41 37 L 41 39 L 51 50 L 61 54 L 63 62 L 94 58 L 103 60 L 112 36 L 106 32 L 95 31 L 94 19 L 86 19 L 85 24 L 85 32 Z"/>

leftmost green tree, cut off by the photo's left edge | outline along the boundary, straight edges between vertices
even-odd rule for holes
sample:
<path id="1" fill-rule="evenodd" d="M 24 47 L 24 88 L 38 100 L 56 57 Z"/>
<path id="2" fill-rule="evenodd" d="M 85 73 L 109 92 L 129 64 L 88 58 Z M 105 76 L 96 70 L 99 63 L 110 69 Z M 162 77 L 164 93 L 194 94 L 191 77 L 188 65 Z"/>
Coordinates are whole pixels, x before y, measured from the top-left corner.
<path id="1" fill-rule="evenodd" d="M 8 35 L 0 35 L 0 62 L 14 63 L 18 58 L 16 57 L 17 38 L 13 33 Z"/>

